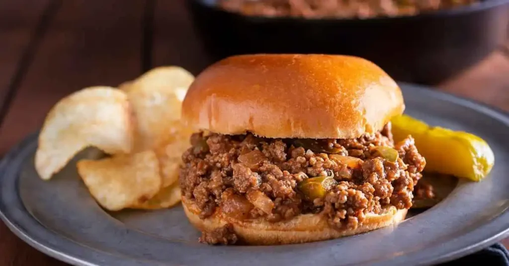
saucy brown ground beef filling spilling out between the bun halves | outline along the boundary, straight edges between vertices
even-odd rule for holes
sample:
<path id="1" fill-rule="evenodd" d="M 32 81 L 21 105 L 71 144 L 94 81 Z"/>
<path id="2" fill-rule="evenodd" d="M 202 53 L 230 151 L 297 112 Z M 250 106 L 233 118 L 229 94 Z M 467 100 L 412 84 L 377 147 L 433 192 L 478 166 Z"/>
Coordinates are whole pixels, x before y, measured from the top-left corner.
<path id="1" fill-rule="evenodd" d="M 192 147 L 182 156 L 180 183 L 183 195 L 199 206 L 201 218 L 216 208 L 237 219 L 265 217 L 271 222 L 322 213 L 337 228 L 355 229 L 367 213 L 379 214 L 388 206 L 409 209 L 426 164 L 412 138 L 394 145 L 390 124 L 355 139 L 200 132 L 190 141 Z M 398 159 L 384 159 L 377 146 L 397 150 Z M 333 176 L 335 185 L 324 197 L 310 199 L 298 184 L 316 176 Z"/>

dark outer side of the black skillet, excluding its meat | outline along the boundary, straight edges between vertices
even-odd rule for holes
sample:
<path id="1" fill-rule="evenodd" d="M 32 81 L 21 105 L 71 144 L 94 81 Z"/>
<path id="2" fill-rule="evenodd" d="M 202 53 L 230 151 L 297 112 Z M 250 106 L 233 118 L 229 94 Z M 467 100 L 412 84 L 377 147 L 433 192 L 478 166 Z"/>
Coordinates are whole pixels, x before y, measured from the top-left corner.
<path id="1" fill-rule="evenodd" d="M 216 0 L 187 0 L 215 60 L 246 53 L 365 57 L 401 81 L 435 84 L 482 60 L 507 39 L 509 0 L 416 16 L 371 19 L 247 17 Z"/>

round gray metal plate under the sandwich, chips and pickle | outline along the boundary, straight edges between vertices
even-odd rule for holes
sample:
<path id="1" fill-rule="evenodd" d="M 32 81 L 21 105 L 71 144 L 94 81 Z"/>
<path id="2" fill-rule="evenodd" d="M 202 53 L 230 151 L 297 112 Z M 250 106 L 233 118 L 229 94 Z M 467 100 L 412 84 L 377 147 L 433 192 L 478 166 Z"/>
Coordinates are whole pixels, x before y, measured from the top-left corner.
<path id="1" fill-rule="evenodd" d="M 509 117 L 468 100 L 401 85 L 406 113 L 486 139 L 495 166 L 482 182 L 459 182 L 444 201 L 394 227 L 298 245 L 199 244 L 199 232 L 180 206 L 102 210 L 76 172 L 76 160 L 88 152 L 52 180 L 39 179 L 33 163 L 36 135 L 0 164 L 0 217 L 30 245 L 75 265 L 417 265 L 454 259 L 500 240 L 509 229 Z"/>

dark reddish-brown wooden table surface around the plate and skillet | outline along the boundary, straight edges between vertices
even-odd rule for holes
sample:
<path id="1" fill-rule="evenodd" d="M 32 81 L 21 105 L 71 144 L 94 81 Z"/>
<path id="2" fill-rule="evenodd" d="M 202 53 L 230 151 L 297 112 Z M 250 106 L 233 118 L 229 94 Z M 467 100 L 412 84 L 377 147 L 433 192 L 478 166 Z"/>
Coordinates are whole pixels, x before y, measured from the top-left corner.
<path id="1" fill-rule="evenodd" d="M 56 101 L 82 87 L 116 86 L 160 65 L 197 74 L 210 64 L 183 1 L 0 1 L 0 154 L 37 130 Z M 508 54 L 509 43 L 438 87 L 509 111 Z M 65 263 L 0 222 L 0 265 Z"/>

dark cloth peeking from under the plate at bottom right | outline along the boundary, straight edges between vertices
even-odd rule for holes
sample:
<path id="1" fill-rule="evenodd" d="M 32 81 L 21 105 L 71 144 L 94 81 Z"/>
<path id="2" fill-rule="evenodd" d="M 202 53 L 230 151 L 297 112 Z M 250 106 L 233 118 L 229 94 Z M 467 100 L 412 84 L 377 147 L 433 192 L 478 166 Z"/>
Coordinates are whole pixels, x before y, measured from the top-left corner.
<path id="1" fill-rule="evenodd" d="M 507 249 L 502 244 L 497 243 L 479 252 L 438 265 L 453 266 L 467 264 L 509 266 L 509 252 L 507 252 Z"/>

